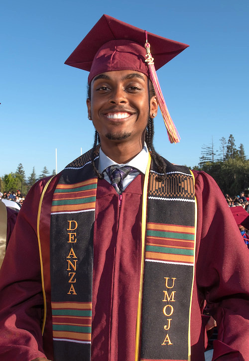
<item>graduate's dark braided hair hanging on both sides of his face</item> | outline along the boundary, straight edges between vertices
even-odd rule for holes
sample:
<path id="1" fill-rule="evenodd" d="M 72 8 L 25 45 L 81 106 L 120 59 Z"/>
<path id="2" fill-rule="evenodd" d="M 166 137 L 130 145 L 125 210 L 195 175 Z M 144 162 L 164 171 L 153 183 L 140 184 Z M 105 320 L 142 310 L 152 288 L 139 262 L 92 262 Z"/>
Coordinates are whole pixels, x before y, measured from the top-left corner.
<path id="1" fill-rule="evenodd" d="M 91 100 L 91 87 L 89 84 L 87 85 L 87 96 Z M 151 81 L 149 81 L 149 97 L 151 99 L 154 96 L 155 96 L 154 88 L 153 88 Z M 153 137 L 154 137 L 154 121 L 153 121 L 153 118 L 149 117 L 146 131 L 145 131 L 145 142 L 147 144 L 148 150 L 150 151 L 151 157 L 153 158 L 153 160 L 156 164 L 158 173 L 159 173 L 159 174 L 157 174 L 157 180 L 163 181 L 165 179 L 166 164 L 165 164 L 163 158 L 154 149 Z M 92 160 L 93 169 L 94 169 L 97 177 L 99 179 L 103 179 L 104 174 L 99 172 L 99 170 L 96 168 L 95 162 L 94 162 L 96 149 L 99 144 L 100 144 L 99 133 L 97 132 L 97 130 L 95 130 L 94 145 L 93 145 L 93 149 L 92 149 L 92 159 L 91 160 Z"/>

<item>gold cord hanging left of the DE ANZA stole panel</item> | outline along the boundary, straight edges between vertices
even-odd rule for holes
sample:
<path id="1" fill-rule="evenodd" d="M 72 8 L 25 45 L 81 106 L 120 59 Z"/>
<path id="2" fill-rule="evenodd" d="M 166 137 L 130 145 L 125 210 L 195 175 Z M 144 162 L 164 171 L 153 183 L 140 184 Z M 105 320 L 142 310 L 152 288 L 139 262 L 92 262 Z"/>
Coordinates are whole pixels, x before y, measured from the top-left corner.
<path id="1" fill-rule="evenodd" d="M 38 207 L 38 214 L 37 214 L 37 241 L 38 241 L 38 246 L 39 246 L 39 255 L 40 255 L 40 264 L 41 264 L 41 287 L 42 287 L 43 303 L 44 303 L 44 314 L 43 314 L 43 322 L 42 322 L 42 329 L 41 329 L 42 336 L 43 336 L 43 333 L 44 333 L 46 317 L 47 317 L 47 303 L 46 303 L 46 293 L 45 293 L 44 275 L 43 275 L 43 263 L 42 263 L 42 253 L 41 253 L 40 216 L 41 216 L 41 205 L 42 205 L 42 201 L 43 201 L 43 198 L 44 198 L 44 194 L 45 194 L 45 192 L 47 190 L 47 187 L 48 187 L 49 183 L 51 182 L 51 180 L 54 177 L 55 176 L 50 178 L 47 181 L 47 183 L 45 184 L 45 187 L 43 188 L 43 191 L 41 193 L 40 202 L 39 202 L 39 207 Z"/>

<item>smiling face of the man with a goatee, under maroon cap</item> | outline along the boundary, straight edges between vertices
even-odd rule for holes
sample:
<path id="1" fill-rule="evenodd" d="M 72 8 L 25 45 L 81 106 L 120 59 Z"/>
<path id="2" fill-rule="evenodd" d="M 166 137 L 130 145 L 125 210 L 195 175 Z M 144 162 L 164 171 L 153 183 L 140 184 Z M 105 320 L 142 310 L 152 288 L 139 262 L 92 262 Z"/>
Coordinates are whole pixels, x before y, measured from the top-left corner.
<path id="1" fill-rule="evenodd" d="M 129 143 L 142 149 L 148 118 L 157 112 L 149 99 L 148 79 L 139 72 L 121 70 L 97 75 L 91 82 L 88 115 L 99 133 L 101 146 Z M 106 153 L 107 154 L 107 153 Z"/>

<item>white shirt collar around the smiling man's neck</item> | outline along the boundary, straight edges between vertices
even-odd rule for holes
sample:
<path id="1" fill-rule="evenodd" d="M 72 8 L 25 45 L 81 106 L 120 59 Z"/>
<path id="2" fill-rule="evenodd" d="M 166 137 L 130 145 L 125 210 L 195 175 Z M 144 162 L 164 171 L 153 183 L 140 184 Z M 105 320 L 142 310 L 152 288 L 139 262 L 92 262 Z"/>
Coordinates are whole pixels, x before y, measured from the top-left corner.
<path id="1" fill-rule="evenodd" d="M 100 148 L 99 172 L 103 173 L 104 170 L 110 165 L 117 165 L 118 167 L 129 165 L 130 167 L 136 168 L 139 170 L 139 172 L 145 174 L 148 158 L 149 152 L 146 143 L 144 143 L 142 150 L 134 158 L 132 158 L 129 162 L 125 164 L 116 163 L 114 160 L 109 158 Z"/>

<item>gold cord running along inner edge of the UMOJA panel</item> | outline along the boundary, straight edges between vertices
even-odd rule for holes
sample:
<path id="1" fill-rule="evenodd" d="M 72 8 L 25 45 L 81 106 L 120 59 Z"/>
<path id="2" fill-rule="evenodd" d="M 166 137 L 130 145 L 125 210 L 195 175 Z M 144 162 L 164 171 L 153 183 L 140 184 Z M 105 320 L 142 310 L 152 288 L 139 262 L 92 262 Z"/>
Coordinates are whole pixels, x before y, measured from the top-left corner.
<path id="1" fill-rule="evenodd" d="M 139 361 L 139 346 L 140 346 L 140 328 L 141 328 L 141 310 L 142 310 L 142 286 L 143 286 L 143 269 L 144 269 L 144 248 L 145 248 L 145 231 L 146 231 L 146 213 L 147 213 L 147 192 L 148 192 L 148 180 L 150 170 L 151 157 L 149 154 L 147 168 L 143 183 L 142 193 L 142 227 L 141 227 L 141 270 L 140 270 L 140 285 L 138 295 L 138 307 L 136 315 L 136 342 L 135 342 L 135 361 Z"/>

